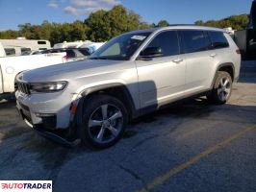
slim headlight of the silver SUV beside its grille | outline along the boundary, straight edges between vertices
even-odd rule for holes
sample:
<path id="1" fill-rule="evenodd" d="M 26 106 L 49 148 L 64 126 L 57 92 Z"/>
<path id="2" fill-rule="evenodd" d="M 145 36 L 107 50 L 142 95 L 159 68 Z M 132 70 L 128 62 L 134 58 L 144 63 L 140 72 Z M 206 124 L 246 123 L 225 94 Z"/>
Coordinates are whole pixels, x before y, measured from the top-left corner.
<path id="1" fill-rule="evenodd" d="M 53 83 L 41 83 L 31 84 L 31 93 L 45 93 L 45 92 L 56 92 L 63 90 L 67 82 L 53 82 Z"/>

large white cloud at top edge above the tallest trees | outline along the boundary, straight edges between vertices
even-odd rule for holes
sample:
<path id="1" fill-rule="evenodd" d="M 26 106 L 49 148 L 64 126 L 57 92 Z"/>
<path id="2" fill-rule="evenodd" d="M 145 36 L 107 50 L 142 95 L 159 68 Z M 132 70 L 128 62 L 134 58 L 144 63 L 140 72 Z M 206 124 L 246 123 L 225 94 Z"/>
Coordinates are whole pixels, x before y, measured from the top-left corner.
<path id="1" fill-rule="evenodd" d="M 120 4 L 119 0 L 70 0 L 70 5 L 65 7 L 64 12 L 73 15 L 90 14 L 99 10 L 110 10 Z"/>

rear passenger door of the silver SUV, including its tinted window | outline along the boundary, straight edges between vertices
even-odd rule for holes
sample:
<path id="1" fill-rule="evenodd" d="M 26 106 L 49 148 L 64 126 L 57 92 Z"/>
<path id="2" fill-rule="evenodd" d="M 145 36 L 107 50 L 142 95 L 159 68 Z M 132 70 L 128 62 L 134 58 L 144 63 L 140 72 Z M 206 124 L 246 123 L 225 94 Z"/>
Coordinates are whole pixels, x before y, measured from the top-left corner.
<path id="1" fill-rule="evenodd" d="M 209 75 L 215 70 L 214 50 L 207 32 L 200 30 L 181 30 L 181 56 L 186 60 L 185 94 L 194 93 L 208 88 Z"/>

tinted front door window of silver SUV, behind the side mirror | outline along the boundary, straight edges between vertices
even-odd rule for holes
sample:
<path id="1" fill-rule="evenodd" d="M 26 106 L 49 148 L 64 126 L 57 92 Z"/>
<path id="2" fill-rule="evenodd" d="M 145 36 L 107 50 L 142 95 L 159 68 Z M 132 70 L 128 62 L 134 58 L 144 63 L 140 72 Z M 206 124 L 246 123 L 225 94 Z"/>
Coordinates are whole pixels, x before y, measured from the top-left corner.
<path id="1" fill-rule="evenodd" d="M 179 40 L 176 31 L 166 31 L 154 37 L 147 47 L 160 47 L 163 57 L 180 53 Z"/>

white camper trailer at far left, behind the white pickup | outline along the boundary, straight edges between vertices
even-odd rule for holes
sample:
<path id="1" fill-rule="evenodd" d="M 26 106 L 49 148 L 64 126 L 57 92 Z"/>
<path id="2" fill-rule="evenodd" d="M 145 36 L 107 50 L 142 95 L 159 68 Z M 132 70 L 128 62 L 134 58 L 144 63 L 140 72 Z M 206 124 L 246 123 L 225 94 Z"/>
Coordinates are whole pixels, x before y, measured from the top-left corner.
<path id="1" fill-rule="evenodd" d="M 27 51 L 38 51 L 50 49 L 51 44 L 49 40 L 32 40 L 25 37 L 18 37 L 16 39 L 0 39 L 7 56 L 20 56 Z"/>

